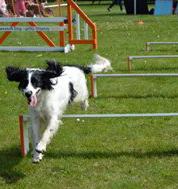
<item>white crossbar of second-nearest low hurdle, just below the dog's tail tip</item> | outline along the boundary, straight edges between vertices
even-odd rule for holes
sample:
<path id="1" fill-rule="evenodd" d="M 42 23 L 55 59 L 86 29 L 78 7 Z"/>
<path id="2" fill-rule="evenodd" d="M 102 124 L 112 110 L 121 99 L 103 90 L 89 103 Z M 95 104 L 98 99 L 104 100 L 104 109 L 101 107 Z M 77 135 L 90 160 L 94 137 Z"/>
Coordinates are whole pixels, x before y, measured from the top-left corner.
<path id="1" fill-rule="evenodd" d="M 178 73 L 93 74 L 93 77 L 178 77 Z"/>

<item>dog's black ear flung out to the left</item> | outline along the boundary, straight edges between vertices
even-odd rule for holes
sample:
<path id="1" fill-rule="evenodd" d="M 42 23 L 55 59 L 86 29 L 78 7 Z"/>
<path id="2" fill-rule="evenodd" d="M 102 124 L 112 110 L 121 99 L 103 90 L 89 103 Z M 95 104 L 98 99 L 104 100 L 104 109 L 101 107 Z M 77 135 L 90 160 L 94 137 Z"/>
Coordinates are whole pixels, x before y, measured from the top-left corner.
<path id="1" fill-rule="evenodd" d="M 8 66 L 6 67 L 6 74 L 7 74 L 7 79 L 9 81 L 16 81 L 20 82 L 24 79 L 26 76 L 26 70 L 19 69 L 16 67 Z"/>

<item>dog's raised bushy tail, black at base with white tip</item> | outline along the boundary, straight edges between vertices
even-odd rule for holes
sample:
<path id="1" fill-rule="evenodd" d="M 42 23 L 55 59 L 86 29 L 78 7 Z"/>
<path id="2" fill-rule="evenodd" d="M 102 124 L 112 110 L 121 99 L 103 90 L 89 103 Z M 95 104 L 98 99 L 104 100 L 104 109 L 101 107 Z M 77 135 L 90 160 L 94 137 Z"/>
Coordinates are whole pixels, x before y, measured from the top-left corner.
<path id="1" fill-rule="evenodd" d="M 112 67 L 111 67 L 111 62 L 108 59 L 98 54 L 95 54 L 93 63 L 88 65 L 87 67 L 83 67 L 82 69 L 85 74 L 89 74 L 89 73 L 111 71 Z"/>

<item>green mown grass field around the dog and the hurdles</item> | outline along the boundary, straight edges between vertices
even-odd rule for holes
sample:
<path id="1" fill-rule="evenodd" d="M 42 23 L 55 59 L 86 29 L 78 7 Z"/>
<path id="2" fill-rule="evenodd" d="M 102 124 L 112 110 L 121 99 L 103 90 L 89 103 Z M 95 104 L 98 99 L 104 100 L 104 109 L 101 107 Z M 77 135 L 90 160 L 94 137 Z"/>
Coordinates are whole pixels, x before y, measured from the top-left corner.
<path id="1" fill-rule="evenodd" d="M 117 6 L 106 8 L 82 6 L 98 27 L 97 53 L 112 61 L 113 73 L 128 73 L 128 55 L 177 54 L 175 45 L 145 51 L 146 41 L 178 41 L 177 16 L 126 16 Z M 14 33 L 7 43 L 41 44 L 37 39 Z M 27 112 L 27 103 L 5 67 L 45 67 L 50 58 L 87 65 L 93 53 L 90 46 L 69 54 L 0 52 L 0 188 L 178 188 L 178 118 L 64 119 L 40 164 L 30 154 L 21 157 L 18 114 Z M 177 72 L 177 59 L 133 61 L 132 73 Z M 89 102 L 87 113 L 178 112 L 178 78 L 100 78 L 98 98 Z M 83 112 L 73 105 L 66 113 Z"/>

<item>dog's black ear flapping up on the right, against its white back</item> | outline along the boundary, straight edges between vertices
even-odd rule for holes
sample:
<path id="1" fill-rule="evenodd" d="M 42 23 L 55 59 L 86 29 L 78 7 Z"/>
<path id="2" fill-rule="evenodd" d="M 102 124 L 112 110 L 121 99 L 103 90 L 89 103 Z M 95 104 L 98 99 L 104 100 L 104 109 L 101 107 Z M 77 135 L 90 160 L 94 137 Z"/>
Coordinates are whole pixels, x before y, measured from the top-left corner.
<path id="1" fill-rule="evenodd" d="M 61 64 L 55 60 L 47 60 L 46 63 L 48 65 L 46 68 L 46 74 L 48 74 L 49 78 L 59 77 L 62 74 L 63 68 Z"/>

